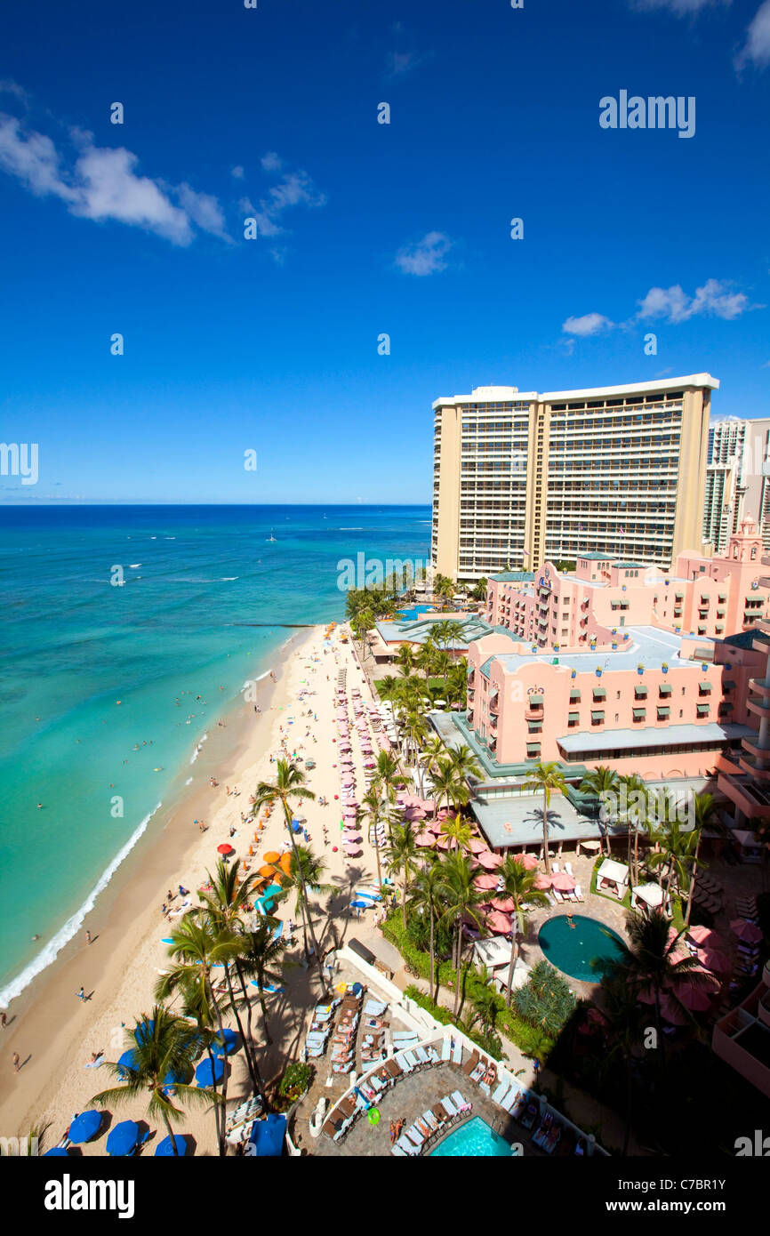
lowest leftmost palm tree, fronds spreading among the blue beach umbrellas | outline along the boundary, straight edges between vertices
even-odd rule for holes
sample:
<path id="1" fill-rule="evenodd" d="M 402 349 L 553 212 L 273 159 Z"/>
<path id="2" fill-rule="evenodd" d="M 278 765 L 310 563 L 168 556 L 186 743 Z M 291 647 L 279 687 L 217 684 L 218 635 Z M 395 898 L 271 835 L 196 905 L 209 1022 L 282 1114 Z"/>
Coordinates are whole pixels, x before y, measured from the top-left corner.
<path id="1" fill-rule="evenodd" d="M 171 1117 L 182 1116 L 182 1110 L 174 1106 L 168 1095 L 168 1078 L 188 1077 L 192 1072 L 200 1046 L 198 1032 L 163 1005 L 154 1005 L 148 1017 L 142 1014 L 133 1031 L 126 1031 L 126 1042 L 133 1053 L 133 1065 L 127 1069 L 112 1060 L 105 1060 L 103 1065 L 114 1077 L 122 1079 L 122 1085 L 100 1090 L 91 1103 L 100 1107 L 108 1104 L 119 1106 L 143 1095 L 147 1115 L 153 1121 L 163 1121 L 173 1153 L 178 1154 Z M 185 1103 L 214 1104 L 216 1107 L 222 1101 L 214 1090 L 180 1082 L 174 1083 L 173 1093 Z"/>

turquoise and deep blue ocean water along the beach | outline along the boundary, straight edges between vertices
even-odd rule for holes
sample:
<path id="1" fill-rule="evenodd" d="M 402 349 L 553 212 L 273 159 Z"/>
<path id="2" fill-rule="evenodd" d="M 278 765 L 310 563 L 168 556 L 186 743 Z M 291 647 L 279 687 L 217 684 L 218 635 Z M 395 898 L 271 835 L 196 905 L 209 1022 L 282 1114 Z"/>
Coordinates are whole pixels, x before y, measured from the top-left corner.
<path id="1" fill-rule="evenodd" d="M 337 564 L 429 543 L 429 507 L 0 507 L 0 1006 L 80 928 L 282 624 L 344 617 Z"/>

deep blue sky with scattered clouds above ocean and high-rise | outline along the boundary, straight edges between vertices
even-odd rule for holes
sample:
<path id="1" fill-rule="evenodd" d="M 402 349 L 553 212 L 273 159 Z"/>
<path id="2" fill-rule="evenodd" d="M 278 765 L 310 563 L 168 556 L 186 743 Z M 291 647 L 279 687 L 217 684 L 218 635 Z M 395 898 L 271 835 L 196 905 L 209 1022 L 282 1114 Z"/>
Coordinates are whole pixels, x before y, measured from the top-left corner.
<path id="1" fill-rule="evenodd" d="M 770 0 L 5 0 L 0 83 L 0 501 L 428 502 L 492 382 L 770 414 Z"/>

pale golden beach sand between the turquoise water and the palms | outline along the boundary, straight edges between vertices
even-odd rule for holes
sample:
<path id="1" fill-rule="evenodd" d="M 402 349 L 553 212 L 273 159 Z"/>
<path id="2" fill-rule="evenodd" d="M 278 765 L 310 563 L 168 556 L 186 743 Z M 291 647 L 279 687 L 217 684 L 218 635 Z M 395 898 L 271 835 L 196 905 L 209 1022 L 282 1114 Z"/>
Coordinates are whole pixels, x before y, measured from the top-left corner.
<path id="1" fill-rule="evenodd" d="M 325 883 L 334 886 L 332 894 L 316 899 L 314 925 L 321 953 L 350 932 L 355 922 L 347 908 L 351 892 L 357 884 L 376 880 L 376 863 L 366 838 L 363 855 L 352 861 L 344 854 L 340 842 L 340 803 L 335 802 L 335 795 L 340 794 L 340 770 L 334 766 L 337 763 L 334 743 L 337 667 L 347 669 L 349 696 L 350 690 L 357 687 L 368 702 L 371 692 L 352 646 L 340 643 L 339 628 L 329 646 L 324 644 L 323 630 L 313 628 L 294 639 L 293 646 L 286 650 L 274 686 L 269 679 L 262 680 L 260 702 L 263 711 L 260 714 L 253 712 L 252 703 L 240 703 L 225 718 L 226 728 L 211 727 L 209 742 L 193 766 L 194 785 L 189 794 L 148 829 L 99 899 L 78 938 L 10 1006 L 9 1025 L 0 1037 L 0 1132 L 4 1136 L 21 1135 L 32 1126 L 48 1124 L 46 1149 L 59 1141 L 73 1114 L 83 1111 L 93 1094 L 115 1085 L 106 1070 L 87 1069 L 85 1063 L 98 1051 L 103 1051 L 106 1059 L 117 1059 L 129 1046 L 121 1023 L 131 1028 L 153 1004 L 158 970 L 168 962 L 167 946 L 161 941 L 173 927 L 173 922 L 166 922 L 161 915 L 167 890 L 177 890 L 182 884 L 192 890 L 193 904 L 197 904 L 195 890 L 206 869 L 215 865 L 216 847 L 222 842 L 231 840 L 236 850 L 234 860 L 247 858 L 255 823 L 242 824 L 241 812 L 248 815 L 248 797 L 257 782 L 272 780 L 274 765 L 269 756 L 271 753 L 281 756 L 282 737 L 288 738 L 289 755 L 297 749 L 304 758 L 316 760 L 305 784 L 316 796 L 329 800 L 326 807 L 309 801 L 300 808 L 307 817 L 310 844 L 328 864 Z M 314 693 L 298 701 L 303 691 Z M 308 709 L 318 713 L 316 722 L 311 716 L 302 716 Z M 309 727 L 311 734 L 308 735 Z M 355 727 L 352 729 L 355 732 Z M 355 740 L 353 755 L 361 797 L 363 768 Z M 216 789 L 209 785 L 211 775 L 219 781 Z M 225 792 L 226 786 L 231 789 L 230 796 Z M 194 819 L 204 819 L 208 832 L 201 834 Z M 326 845 L 324 822 L 329 831 Z M 237 829 L 232 839 L 231 827 Z M 252 871 L 261 865 L 258 859 L 266 850 L 283 850 L 287 844 L 286 826 L 276 810 L 260 833 L 258 845 L 253 845 Z M 339 847 L 336 853 L 332 852 L 335 844 Z M 172 906 L 179 904 L 177 896 Z M 287 925 L 289 918 L 299 920 L 293 902 L 286 902 L 279 913 Z M 87 928 L 93 936 L 90 946 L 85 943 Z M 356 925 L 353 934 L 365 938 L 368 931 L 371 925 L 362 922 Z M 309 1010 L 323 990 L 316 969 L 309 970 L 302 964 L 300 946 L 302 932 L 298 931 L 295 947 L 287 953 L 294 962 L 286 973 L 287 990 L 271 997 L 274 1039 L 271 1046 L 264 1044 L 258 1004 L 253 1002 L 253 1036 L 263 1044 L 260 1068 L 266 1083 L 279 1077 L 289 1059 L 297 1058 Z M 85 989 L 85 1001 L 77 996 L 80 985 Z M 242 1018 L 245 1021 L 245 1012 Z M 11 1065 L 14 1052 L 22 1062 L 19 1073 L 14 1073 Z M 242 1051 L 230 1058 L 230 1068 L 229 1101 L 251 1093 Z M 112 1111 L 112 1122 L 145 1119 L 138 1101 L 108 1110 Z M 194 1138 L 197 1153 L 216 1153 L 210 1112 L 187 1107 L 172 1124 L 177 1132 L 187 1132 Z M 109 1125 L 103 1127 L 106 1130 Z M 158 1140 L 163 1136 L 161 1128 Z M 83 1153 L 105 1154 L 105 1140 L 100 1135 L 82 1147 Z M 145 1153 L 153 1153 L 153 1146 L 154 1140 Z"/>

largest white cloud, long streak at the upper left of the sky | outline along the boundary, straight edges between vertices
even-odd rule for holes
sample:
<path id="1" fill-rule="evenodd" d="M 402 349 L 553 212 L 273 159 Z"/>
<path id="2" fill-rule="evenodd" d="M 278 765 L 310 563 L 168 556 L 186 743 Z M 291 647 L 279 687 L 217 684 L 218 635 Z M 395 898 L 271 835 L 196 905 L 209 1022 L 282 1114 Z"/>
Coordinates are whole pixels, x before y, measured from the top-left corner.
<path id="1" fill-rule="evenodd" d="M 0 168 L 36 197 L 59 198 L 82 219 L 112 219 L 174 245 L 189 245 L 195 227 L 227 239 L 221 208 L 211 194 L 137 176 L 138 158 L 122 146 L 95 146 L 93 135 L 79 130 L 70 137 L 78 154 L 67 168 L 48 136 L 26 130 L 14 116 L 0 115 Z"/>

